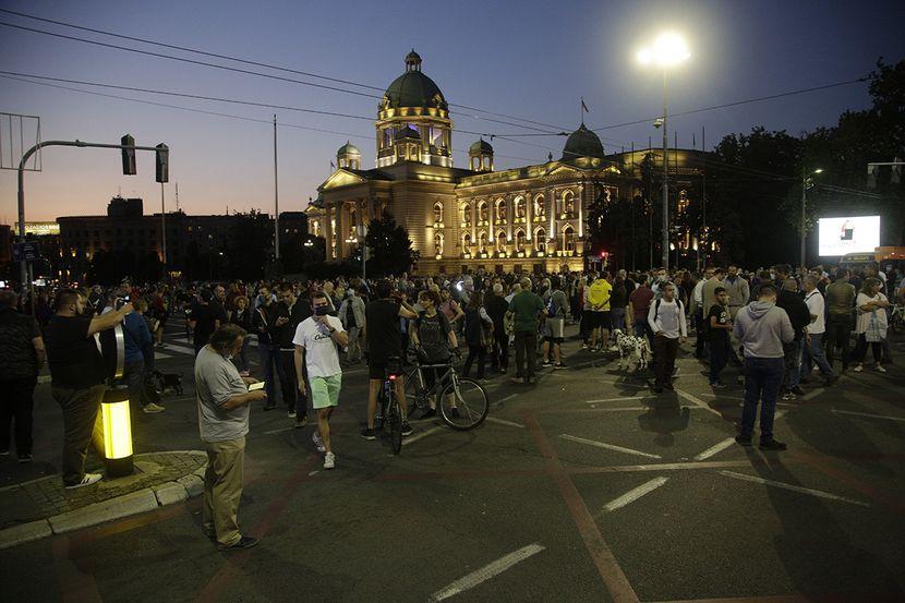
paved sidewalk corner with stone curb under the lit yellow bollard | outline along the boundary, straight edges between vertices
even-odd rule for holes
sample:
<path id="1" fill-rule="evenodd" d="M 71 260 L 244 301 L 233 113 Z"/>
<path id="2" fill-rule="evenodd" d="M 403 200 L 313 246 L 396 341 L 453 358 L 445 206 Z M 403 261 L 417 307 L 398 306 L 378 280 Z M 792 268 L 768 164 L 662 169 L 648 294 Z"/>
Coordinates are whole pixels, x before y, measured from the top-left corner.
<path id="1" fill-rule="evenodd" d="M 65 490 L 59 475 L 48 475 L 0 489 L 0 548 L 197 496 L 206 465 L 201 450 L 147 453 L 135 455 L 134 474 L 90 486 Z"/>

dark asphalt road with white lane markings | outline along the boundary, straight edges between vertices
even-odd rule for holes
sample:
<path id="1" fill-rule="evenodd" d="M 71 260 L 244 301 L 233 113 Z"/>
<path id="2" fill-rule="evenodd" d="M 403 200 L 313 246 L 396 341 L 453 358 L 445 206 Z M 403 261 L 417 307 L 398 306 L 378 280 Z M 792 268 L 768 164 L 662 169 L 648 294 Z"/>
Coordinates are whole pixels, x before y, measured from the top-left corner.
<path id="1" fill-rule="evenodd" d="M 359 437 L 366 374 L 349 371 L 333 471 L 312 426 L 254 408 L 240 522 L 257 548 L 218 553 L 195 498 L 0 551 L 2 599 L 905 600 L 901 343 L 889 374 L 781 406 L 780 454 L 731 441 L 741 388 L 714 395 L 688 349 L 676 391 L 655 396 L 607 355 L 565 347 L 569 369 L 536 386 L 490 379 L 481 429 L 414 423 L 398 457 Z M 134 414 L 135 450 L 201 449 L 191 353 L 171 347 L 158 364 L 185 394 Z M 7 483 L 59 467 L 49 386 L 36 405 L 35 463 L 3 461 Z"/>

